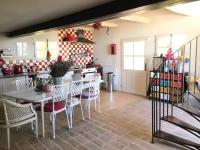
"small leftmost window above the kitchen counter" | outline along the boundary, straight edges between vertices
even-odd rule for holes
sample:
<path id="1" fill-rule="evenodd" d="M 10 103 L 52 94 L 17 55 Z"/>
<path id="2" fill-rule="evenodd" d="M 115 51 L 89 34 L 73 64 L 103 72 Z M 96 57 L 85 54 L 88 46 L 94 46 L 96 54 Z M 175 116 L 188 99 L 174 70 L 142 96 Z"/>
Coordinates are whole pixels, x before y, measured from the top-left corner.
<path id="1" fill-rule="evenodd" d="M 29 56 L 27 43 L 26 42 L 17 42 L 17 56 L 18 57 L 27 57 Z"/>

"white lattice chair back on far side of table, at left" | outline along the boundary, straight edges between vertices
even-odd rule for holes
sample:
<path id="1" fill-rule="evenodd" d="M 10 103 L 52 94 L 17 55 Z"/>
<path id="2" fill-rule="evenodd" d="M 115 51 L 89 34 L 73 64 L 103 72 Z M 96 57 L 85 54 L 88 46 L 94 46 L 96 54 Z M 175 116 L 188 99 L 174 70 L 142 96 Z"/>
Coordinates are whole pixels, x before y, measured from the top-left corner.
<path id="1" fill-rule="evenodd" d="M 32 78 L 18 79 L 15 81 L 17 91 L 33 87 Z"/>

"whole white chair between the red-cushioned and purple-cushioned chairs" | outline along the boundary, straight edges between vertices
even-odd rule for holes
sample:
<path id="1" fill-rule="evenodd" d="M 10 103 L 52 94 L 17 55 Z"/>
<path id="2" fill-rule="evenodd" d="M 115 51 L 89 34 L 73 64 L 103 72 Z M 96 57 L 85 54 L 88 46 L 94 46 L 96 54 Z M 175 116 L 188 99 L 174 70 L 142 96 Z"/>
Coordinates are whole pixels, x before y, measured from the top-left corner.
<path id="1" fill-rule="evenodd" d="M 70 118 L 70 126 L 72 128 L 73 110 L 75 106 L 80 105 L 82 119 L 84 120 L 83 108 L 81 104 L 81 94 L 83 88 L 83 80 L 72 81 L 70 85 L 70 98 L 67 101 L 68 118 Z"/>

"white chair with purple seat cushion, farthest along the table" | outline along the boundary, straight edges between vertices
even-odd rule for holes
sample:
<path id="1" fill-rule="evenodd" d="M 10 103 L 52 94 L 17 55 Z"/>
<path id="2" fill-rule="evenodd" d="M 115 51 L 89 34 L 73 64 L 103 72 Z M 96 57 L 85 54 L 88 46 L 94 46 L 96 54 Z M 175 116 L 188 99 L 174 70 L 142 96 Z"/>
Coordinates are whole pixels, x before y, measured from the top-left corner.
<path id="1" fill-rule="evenodd" d="M 94 110 L 96 111 L 96 106 L 98 106 L 98 111 L 100 110 L 100 80 L 95 78 L 89 81 L 89 89 L 82 93 L 82 100 L 86 101 L 86 106 L 88 109 L 88 119 L 90 119 L 90 106 L 91 102 L 94 102 Z"/>

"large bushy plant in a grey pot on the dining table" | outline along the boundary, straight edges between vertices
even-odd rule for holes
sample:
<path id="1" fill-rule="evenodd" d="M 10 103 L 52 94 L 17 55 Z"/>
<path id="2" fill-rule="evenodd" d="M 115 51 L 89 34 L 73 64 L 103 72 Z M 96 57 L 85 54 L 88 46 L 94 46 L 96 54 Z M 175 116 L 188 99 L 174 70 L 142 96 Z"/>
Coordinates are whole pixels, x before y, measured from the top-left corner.
<path id="1" fill-rule="evenodd" d="M 69 71 L 71 66 L 71 61 L 62 61 L 61 59 L 58 59 L 55 63 L 50 63 L 50 75 L 53 77 L 55 85 L 63 83 L 63 76 Z"/>

